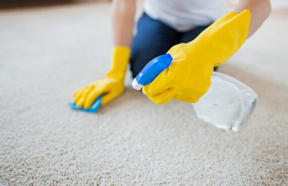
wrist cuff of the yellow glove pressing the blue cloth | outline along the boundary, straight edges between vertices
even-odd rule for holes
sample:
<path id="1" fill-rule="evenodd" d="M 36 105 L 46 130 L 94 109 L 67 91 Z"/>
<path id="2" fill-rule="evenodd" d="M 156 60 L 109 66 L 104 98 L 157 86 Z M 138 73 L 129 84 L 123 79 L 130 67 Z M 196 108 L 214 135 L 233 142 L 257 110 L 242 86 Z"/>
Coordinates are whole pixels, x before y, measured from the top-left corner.
<path id="1" fill-rule="evenodd" d="M 106 77 L 124 81 L 129 55 L 130 48 L 127 46 L 114 46 L 111 59 L 111 70 L 106 74 Z"/>

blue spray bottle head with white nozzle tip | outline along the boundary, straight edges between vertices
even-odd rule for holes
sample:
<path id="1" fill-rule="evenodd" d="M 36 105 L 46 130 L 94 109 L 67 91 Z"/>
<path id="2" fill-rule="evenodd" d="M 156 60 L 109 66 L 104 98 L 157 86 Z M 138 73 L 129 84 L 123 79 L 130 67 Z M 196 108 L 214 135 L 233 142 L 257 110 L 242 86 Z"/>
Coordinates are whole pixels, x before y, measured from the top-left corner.
<path id="1" fill-rule="evenodd" d="M 143 86 L 150 84 L 161 72 L 169 67 L 172 60 L 173 58 L 170 54 L 164 54 L 151 60 L 133 80 L 133 88 L 140 90 Z"/>

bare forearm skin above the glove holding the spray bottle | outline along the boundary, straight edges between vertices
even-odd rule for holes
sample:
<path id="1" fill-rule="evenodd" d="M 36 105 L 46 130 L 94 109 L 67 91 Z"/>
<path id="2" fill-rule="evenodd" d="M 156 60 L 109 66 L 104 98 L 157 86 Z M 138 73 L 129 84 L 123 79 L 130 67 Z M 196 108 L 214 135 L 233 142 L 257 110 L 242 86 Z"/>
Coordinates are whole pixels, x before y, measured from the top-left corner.
<path id="1" fill-rule="evenodd" d="M 234 8 L 234 12 L 238 14 L 245 9 L 249 10 L 251 13 L 250 28 L 248 34 L 248 37 L 250 37 L 268 18 L 271 12 L 271 5 L 269 0 L 239 0 L 239 3 Z"/>

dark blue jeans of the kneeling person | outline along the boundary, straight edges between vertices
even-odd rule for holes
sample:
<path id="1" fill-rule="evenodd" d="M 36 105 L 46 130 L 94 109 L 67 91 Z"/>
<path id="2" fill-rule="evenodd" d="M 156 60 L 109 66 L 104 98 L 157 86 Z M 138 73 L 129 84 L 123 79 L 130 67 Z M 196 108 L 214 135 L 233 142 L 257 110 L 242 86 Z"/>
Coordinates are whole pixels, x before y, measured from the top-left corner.
<path id="1" fill-rule="evenodd" d="M 149 61 L 166 54 L 175 44 L 195 39 L 209 25 L 178 32 L 143 13 L 138 20 L 137 33 L 132 43 L 130 56 L 132 76 L 136 77 Z"/>

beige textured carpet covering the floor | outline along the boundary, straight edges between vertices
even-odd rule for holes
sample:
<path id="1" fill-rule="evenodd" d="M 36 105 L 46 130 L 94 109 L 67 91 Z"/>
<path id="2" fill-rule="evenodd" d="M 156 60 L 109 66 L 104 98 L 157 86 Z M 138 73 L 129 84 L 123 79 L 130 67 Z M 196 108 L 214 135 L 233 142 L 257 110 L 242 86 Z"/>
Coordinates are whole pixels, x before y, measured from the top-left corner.
<path id="1" fill-rule="evenodd" d="M 68 107 L 109 69 L 110 4 L 0 12 L 0 185 L 288 185 L 288 19 L 271 16 L 220 68 L 259 96 L 239 132 L 131 88 Z M 151 43 L 153 44 L 153 43 Z"/>

